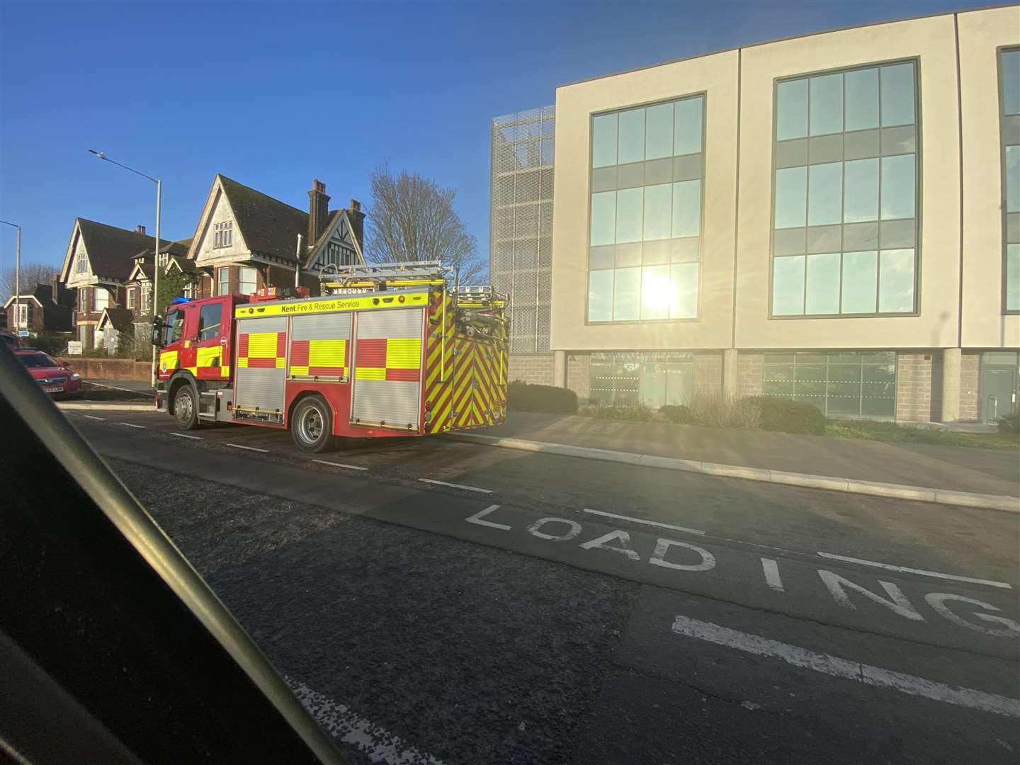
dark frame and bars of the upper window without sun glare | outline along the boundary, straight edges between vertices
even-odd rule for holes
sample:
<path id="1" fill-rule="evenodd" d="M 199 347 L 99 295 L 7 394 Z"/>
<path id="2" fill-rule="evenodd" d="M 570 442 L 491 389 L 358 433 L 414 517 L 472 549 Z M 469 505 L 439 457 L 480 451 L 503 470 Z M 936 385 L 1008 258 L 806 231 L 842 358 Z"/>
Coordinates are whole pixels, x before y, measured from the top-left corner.
<path id="1" fill-rule="evenodd" d="M 804 279 L 805 279 L 804 280 L 804 303 L 805 303 L 805 311 L 806 311 L 806 309 L 807 309 L 807 291 L 808 291 L 808 283 L 807 283 L 807 274 L 808 274 L 807 258 L 810 257 L 811 255 L 823 255 L 823 254 L 826 254 L 826 253 L 808 253 L 808 252 L 804 252 L 804 253 L 802 253 L 800 255 L 789 255 L 789 256 L 786 256 L 786 255 L 776 256 L 776 255 L 773 254 L 774 250 L 775 250 L 775 233 L 776 233 L 776 227 L 775 227 L 776 149 L 777 149 L 777 146 L 778 146 L 778 143 L 779 143 L 778 138 L 777 138 L 777 136 L 778 136 L 777 131 L 778 131 L 778 114 L 779 114 L 779 110 L 776 107 L 776 105 L 778 103 L 779 85 L 781 83 L 789 83 L 789 82 L 795 82 L 795 81 L 798 81 L 798 80 L 807 80 L 808 81 L 808 87 L 807 87 L 807 90 L 808 90 L 808 104 L 807 104 L 807 108 L 808 108 L 808 134 L 804 137 L 804 140 L 809 140 L 809 139 L 812 138 L 812 136 L 811 136 L 811 93 L 810 93 L 811 92 L 811 83 L 810 83 L 810 79 L 811 78 L 815 78 L 815 76 L 823 76 L 825 74 L 836 74 L 836 73 L 844 74 L 845 75 L 844 76 L 844 87 L 843 87 L 843 126 L 844 126 L 844 130 L 843 130 L 843 132 L 840 134 L 825 134 L 825 135 L 842 135 L 842 136 L 845 137 L 845 136 L 848 135 L 848 131 L 847 131 L 847 85 L 846 85 L 846 74 L 849 73 L 849 72 L 851 72 L 851 71 L 860 71 L 860 70 L 863 70 L 863 69 L 878 68 L 879 69 L 879 72 L 878 72 L 878 93 L 877 93 L 878 101 L 879 101 L 879 106 L 878 106 L 878 125 L 877 125 L 877 128 L 875 128 L 873 130 L 878 130 L 880 132 L 882 130 L 882 124 L 881 124 L 881 72 L 880 72 L 880 68 L 882 66 L 896 66 L 897 64 L 905 64 L 905 63 L 910 63 L 910 64 L 913 64 L 913 66 L 914 66 L 914 122 L 913 122 L 913 124 L 914 124 L 915 146 L 914 146 L 913 156 L 914 156 L 914 173 L 915 173 L 915 188 L 914 188 L 915 235 L 914 235 L 914 248 L 913 248 L 914 249 L 914 308 L 913 308 L 913 310 L 909 311 L 909 312 L 905 311 L 905 312 L 896 312 L 896 313 L 881 313 L 881 312 L 879 312 L 878 311 L 878 306 L 880 305 L 880 301 L 881 301 L 881 298 L 880 298 L 881 284 L 880 284 L 880 279 L 878 279 L 878 280 L 876 280 L 876 285 L 875 285 L 875 312 L 873 312 L 873 313 L 818 313 L 818 314 L 807 313 L 807 312 L 805 312 L 805 313 L 797 313 L 797 314 L 776 314 L 776 313 L 774 313 L 773 312 L 773 306 L 774 306 L 774 303 L 773 303 L 773 294 L 774 294 L 773 293 L 773 290 L 774 290 L 774 265 L 773 265 L 773 263 L 775 261 L 776 257 L 780 257 L 780 258 L 781 257 L 803 257 L 803 258 L 805 258 L 805 268 L 804 268 Z M 923 226 L 923 219 L 922 219 L 922 208 L 923 208 L 923 205 L 922 205 L 923 194 L 922 193 L 923 193 L 923 190 L 924 190 L 924 177 L 923 177 L 923 161 L 922 161 L 922 156 L 921 156 L 922 155 L 922 150 L 923 150 L 923 147 L 922 147 L 922 143 L 923 143 L 923 141 L 922 141 L 922 137 L 923 137 L 923 130 L 922 130 L 922 118 L 923 118 L 923 115 L 922 115 L 922 112 L 923 112 L 923 109 L 921 108 L 922 107 L 921 96 L 922 96 L 922 83 L 921 83 L 921 59 L 920 59 L 920 56 L 906 56 L 906 57 L 902 57 L 902 58 L 880 59 L 880 60 L 876 60 L 876 61 L 868 61 L 868 62 L 854 64 L 853 66 L 838 66 L 838 67 L 831 67 L 831 68 L 826 68 L 826 69 L 817 69 L 817 70 L 814 70 L 814 71 L 798 72 L 797 74 L 786 74 L 786 75 L 783 75 L 783 76 L 777 76 L 777 78 L 773 78 L 772 79 L 772 133 L 771 133 L 771 139 L 770 139 L 771 140 L 771 144 L 772 144 L 772 147 L 771 147 L 772 156 L 771 156 L 771 162 L 770 162 L 770 166 L 769 166 L 769 171 L 770 171 L 770 174 L 771 174 L 771 177 L 769 178 L 771 199 L 770 199 L 770 204 L 769 204 L 768 293 L 766 295 L 766 302 L 768 304 L 767 319 L 769 321 L 790 321 L 790 320 L 793 320 L 793 321 L 800 321 L 800 320 L 804 320 L 804 319 L 844 319 L 844 318 L 879 318 L 879 319 L 882 319 L 882 318 L 900 318 L 900 317 L 904 317 L 904 318 L 914 317 L 914 318 L 916 318 L 916 317 L 918 317 L 918 316 L 921 315 L 921 297 L 922 297 L 921 296 L 921 286 L 922 286 L 921 250 L 923 248 L 922 233 L 923 233 L 923 228 L 924 228 L 924 226 Z M 898 125 L 890 125 L 890 126 L 898 126 Z M 861 130 L 872 130 L 872 129 L 859 129 L 858 131 L 849 131 L 849 133 L 857 133 L 857 132 L 861 132 Z M 880 138 L 880 133 L 879 133 L 879 138 Z M 784 140 L 796 140 L 796 139 L 784 139 Z M 882 176 L 882 171 L 881 171 L 881 164 L 882 164 L 882 162 L 881 162 L 881 160 L 886 155 L 881 154 L 881 152 L 879 151 L 879 156 L 877 157 L 877 159 L 878 159 L 878 187 L 879 187 L 878 217 L 873 222 L 877 223 L 878 226 L 879 226 L 879 228 L 881 226 L 881 223 L 883 222 L 882 221 L 882 217 L 881 217 L 881 191 L 880 191 L 881 190 L 881 176 Z M 887 156 L 901 156 L 901 155 L 891 154 L 891 155 L 887 155 Z M 842 186 L 840 207 L 843 208 L 843 214 L 844 215 L 846 214 L 846 203 L 847 203 L 847 162 L 848 161 L 855 161 L 855 160 L 848 160 L 848 159 L 846 159 L 846 155 L 844 156 L 844 159 L 839 160 L 839 163 L 843 165 L 843 181 L 842 181 L 843 186 Z M 811 167 L 810 157 L 809 157 L 808 164 L 804 165 L 804 167 L 806 168 L 806 172 L 808 172 L 807 168 Z M 806 198 L 805 199 L 805 226 L 804 226 L 805 230 L 807 230 L 808 227 L 810 227 L 808 225 L 807 214 L 808 213 L 807 213 L 807 198 Z M 909 220 L 910 218 L 896 218 L 896 219 Z M 891 218 L 890 218 L 890 220 L 891 220 Z M 872 221 L 868 221 L 868 222 L 872 222 Z M 844 222 L 840 222 L 840 225 L 847 225 L 847 223 L 844 221 Z M 839 263 L 840 263 L 840 265 L 839 265 L 839 269 L 840 269 L 839 307 L 840 308 L 843 307 L 843 282 L 842 282 L 843 256 L 847 252 L 858 252 L 858 250 L 847 250 L 847 251 L 844 251 L 842 248 L 843 248 L 843 244 L 840 243 L 840 251 L 839 251 L 839 256 L 840 256 L 839 257 Z M 897 247 L 887 247 L 885 249 L 886 250 L 897 250 L 897 249 L 905 249 L 905 248 L 902 248 L 902 247 L 900 247 L 900 248 L 897 248 Z M 862 252 L 868 252 L 868 251 L 862 250 Z M 877 253 L 876 257 L 877 257 L 877 261 L 878 261 L 879 276 L 880 276 L 881 253 L 882 253 L 882 250 L 881 250 L 880 247 L 876 246 L 875 247 L 875 252 Z M 1005 263 L 1005 253 L 1004 253 L 1003 257 L 1004 257 L 1004 263 Z M 1004 283 L 1004 290 L 1005 290 L 1005 283 Z"/>

